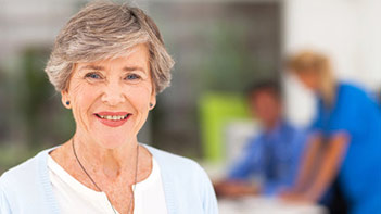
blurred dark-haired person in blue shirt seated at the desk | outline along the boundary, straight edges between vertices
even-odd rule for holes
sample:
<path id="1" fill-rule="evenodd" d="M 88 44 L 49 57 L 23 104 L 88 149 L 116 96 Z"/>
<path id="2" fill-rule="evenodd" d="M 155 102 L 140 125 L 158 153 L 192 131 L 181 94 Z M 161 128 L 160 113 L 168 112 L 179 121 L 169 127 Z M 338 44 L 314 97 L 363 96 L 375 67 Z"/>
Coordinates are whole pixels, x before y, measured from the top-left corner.
<path id="1" fill-rule="evenodd" d="M 277 194 L 292 186 L 304 149 L 306 131 L 283 118 L 279 84 L 270 80 L 255 84 L 247 98 L 263 129 L 247 142 L 226 180 L 215 184 L 219 197 Z"/>

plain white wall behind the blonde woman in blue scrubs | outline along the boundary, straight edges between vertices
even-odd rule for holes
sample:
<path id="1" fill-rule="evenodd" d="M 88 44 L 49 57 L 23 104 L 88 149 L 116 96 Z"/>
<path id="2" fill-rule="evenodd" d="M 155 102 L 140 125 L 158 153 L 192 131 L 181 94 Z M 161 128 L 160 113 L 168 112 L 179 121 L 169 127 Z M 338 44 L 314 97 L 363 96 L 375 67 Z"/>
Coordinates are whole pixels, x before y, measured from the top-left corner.
<path id="1" fill-rule="evenodd" d="M 316 49 L 328 54 L 339 79 L 369 89 L 381 86 L 381 1 L 284 0 L 284 54 Z M 307 124 L 314 110 L 310 93 L 285 80 L 287 114 Z"/>

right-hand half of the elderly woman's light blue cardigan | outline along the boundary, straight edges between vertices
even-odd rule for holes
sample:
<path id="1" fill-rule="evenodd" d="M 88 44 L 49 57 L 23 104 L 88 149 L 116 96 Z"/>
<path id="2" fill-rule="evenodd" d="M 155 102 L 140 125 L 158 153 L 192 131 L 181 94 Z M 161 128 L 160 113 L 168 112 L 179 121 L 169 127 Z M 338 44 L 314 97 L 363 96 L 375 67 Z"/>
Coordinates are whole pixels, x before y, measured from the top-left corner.
<path id="1" fill-rule="evenodd" d="M 193 160 L 144 146 L 160 165 L 166 200 L 178 213 L 218 213 L 206 172 Z"/>

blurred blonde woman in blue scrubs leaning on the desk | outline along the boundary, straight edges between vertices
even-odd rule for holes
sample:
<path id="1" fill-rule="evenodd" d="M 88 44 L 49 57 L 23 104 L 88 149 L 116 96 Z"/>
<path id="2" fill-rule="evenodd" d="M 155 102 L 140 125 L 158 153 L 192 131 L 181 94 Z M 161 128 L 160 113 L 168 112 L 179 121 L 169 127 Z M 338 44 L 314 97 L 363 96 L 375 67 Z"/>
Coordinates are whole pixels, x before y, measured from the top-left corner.
<path id="1" fill-rule="evenodd" d="M 321 200 L 336 179 L 333 187 L 342 190 L 350 213 L 381 213 L 381 114 L 376 100 L 335 80 L 323 54 L 300 52 L 288 65 L 316 92 L 319 104 L 299 181 L 283 198 Z M 332 205 L 332 213 L 345 209 Z"/>

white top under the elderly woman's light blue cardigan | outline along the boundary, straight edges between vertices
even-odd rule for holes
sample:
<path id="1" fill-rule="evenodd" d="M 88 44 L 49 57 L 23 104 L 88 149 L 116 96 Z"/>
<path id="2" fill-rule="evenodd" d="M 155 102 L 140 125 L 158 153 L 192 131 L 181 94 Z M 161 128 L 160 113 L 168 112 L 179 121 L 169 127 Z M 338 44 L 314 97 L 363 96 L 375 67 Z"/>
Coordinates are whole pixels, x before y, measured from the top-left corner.
<path id="1" fill-rule="evenodd" d="M 80 184 L 48 156 L 49 178 L 62 214 L 114 214 L 104 192 L 94 191 Z M 134 198 L 134 214 L 167 214 L 160 166 L 154 158 L 151 174 L 136 185 Z"/>

